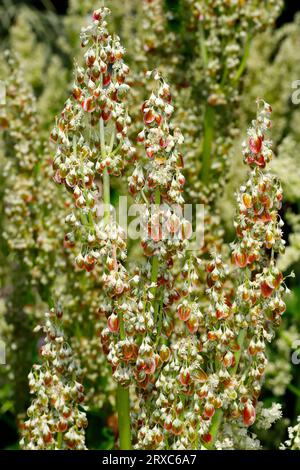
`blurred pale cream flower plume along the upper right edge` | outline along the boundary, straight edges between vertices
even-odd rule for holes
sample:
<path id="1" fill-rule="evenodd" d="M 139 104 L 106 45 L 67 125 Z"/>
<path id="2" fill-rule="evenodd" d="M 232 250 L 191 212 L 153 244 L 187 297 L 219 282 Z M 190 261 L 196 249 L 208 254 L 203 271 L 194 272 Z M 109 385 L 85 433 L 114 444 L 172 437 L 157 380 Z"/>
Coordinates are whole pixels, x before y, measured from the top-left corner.
<path id="1" fill-rule="evenodd" d="M 292 23 L 278 28 L 272 38 L 266 41 L 267 34 L 258 37 L 252 46 L 247 75 L 243 112 L 248 116 L 250 102 L 255 96 L 265 96 L 274 103 L 274 136 L 277 158 L 272 162 L 272 171 L 281 180 L 285 201 L 292 204 L 285 219 L 291 226 L 289 243 L 279 265 L 286 271 L 300 259 L 299 216 L 293 214 L 294 205 L 299 204 L 300 161 L 297 154 L 299 145 L 300 110 L 296 105 L 298 90 L 295 88 L 299 77 L 299 61 L 295 61 L 294 49 L 300 44 L 300 16 Z M 274 53 L 276 51 L 276 53 Z M 259 78 L 257 64 L 265 70 Z M 283 77 L 289 76 L 289 80 Z M 292 88 L 291 88 L 292 87 Z M 295 101 L 296 100 L 296 101 Z M 288 131 L 287 131 L 288 129 Z M 293 168 L 293 171 L 290 171 Z"/>

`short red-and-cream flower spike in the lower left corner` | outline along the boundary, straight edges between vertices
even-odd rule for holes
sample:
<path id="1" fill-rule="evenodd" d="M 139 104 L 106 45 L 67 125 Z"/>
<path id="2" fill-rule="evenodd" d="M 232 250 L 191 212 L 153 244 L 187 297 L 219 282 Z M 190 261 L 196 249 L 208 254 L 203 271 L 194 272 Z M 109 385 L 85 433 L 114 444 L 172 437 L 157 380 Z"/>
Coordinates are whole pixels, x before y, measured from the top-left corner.
<path id="1" fill-rule="evenodd" d="M 40 347 L 42 364 L 29 374 L 30 392 L 35 395 L 23 424 L 21 446 L 28 450 L 85 449 L 82 371 L 61 329 L 59 307 L 45 315 Z"/>

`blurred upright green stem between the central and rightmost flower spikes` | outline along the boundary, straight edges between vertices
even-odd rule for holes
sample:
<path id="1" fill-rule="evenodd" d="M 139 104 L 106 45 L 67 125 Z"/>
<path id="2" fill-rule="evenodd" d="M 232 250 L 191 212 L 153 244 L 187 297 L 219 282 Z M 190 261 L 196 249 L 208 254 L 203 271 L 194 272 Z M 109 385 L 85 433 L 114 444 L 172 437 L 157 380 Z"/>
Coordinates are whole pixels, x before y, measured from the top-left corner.
<path id="1" fill-rule="evenodd" d="M 204 139 L 202 149 L 202 168 L 201 168 L 201 181 L 204 184 L 209 182 L 209 173 L 211 166 L 211 151 L 214 136 L 214 117 L 215 109 L 209 104 L 206 106 L 204 114 Z"/>

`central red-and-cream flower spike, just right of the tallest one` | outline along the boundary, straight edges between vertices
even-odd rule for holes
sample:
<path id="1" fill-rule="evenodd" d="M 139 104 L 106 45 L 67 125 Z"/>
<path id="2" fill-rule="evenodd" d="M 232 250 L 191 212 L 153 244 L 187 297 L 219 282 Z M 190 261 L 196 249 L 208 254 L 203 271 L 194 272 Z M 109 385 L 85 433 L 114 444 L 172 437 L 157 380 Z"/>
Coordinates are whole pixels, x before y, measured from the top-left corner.
<path id="1" fill-rule="evenodd" d="M 142 106 L 145 126 L 138 136 L 146 155 L 129 178 L 131 194 L 143 203 L 141 244 L 146 262 L 134 268 L 131 295 L 117 306 L 123 327 L 113 313 L 101 335 L 114 377 L 118 379 L 126 371 L 127 382 L 135 379 L 142 390 L 168 360 L 168 347 L 162 346 L 162 339 L 172 333 L 172 306 L 182 295 L 176 289 L 178 269 L 174 265 L 183 255 L 190 231 L 182 213 L 174 211 L 174 204 L 175 209 L 182 208 L 184 177 L 177 148 L 182 135 L 169 124 L 173 112 L 170 88 L 158 72 L 148 75 L 153 75 L 155 90 Z"/>

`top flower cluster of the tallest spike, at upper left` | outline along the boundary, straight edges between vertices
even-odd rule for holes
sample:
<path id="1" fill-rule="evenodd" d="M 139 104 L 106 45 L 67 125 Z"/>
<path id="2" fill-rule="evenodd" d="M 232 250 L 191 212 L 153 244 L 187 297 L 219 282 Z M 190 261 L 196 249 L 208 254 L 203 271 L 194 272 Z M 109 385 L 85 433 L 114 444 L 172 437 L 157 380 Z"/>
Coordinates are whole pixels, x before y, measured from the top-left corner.
<path id="1" fill-rule="evenodd" d="M 120 174 L 134 154 L 127 137 L 130 118 L 123 103 L 129 91 L 125 83 L 129 68 L 123 61 L 124 49 L 118 36 L 110 36 L 107 30 L 105 18 L 109 13 L 108 8 L 97 10 L 92 23 L 81 32 L 82 47 L 88 48 L 85 64 L 76 67 L 72 98 L 52 132 L 52 139 L 59 144 L 54 163 L 56 179 L 70 191 L 76 185 L 91 186 L 95 174 L 102 174 L 105 168 Z M 86 120 L 91 127 L 89 138 L 82 132 Z M 102 144 L 101 120 L 115 136 Z M 78 165 L 80 159 L 85 162 L 83 168 Z"/>

